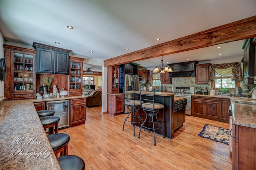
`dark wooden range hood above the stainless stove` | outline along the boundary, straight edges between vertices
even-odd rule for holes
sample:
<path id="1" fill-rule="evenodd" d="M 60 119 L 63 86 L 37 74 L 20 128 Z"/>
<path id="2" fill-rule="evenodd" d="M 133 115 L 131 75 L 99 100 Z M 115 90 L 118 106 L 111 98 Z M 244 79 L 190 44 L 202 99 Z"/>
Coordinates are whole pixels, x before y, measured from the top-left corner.
<path id="1" fill-rule="evenodd" d="M 195 77 L 195 69 L 198 61 L 188 61 L 183 63 L 169 64 L 172 73 L 169 77 Z"/>

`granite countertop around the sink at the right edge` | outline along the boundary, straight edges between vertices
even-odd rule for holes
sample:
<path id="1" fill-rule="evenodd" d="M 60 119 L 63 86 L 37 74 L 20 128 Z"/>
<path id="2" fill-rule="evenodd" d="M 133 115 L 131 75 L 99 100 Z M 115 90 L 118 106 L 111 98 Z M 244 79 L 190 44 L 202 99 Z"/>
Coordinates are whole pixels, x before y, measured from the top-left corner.
<path id="1" fill-rule="evenodd" d="M 256 106 L 255 105 L 241 105 L 234 103 L 234 100 L 240 101 L 255 101 L 254 99 L 242 99 L 239 97 L 231 97 L 231 107 L 233 124 L 244 127 L 256 128 Z"/>

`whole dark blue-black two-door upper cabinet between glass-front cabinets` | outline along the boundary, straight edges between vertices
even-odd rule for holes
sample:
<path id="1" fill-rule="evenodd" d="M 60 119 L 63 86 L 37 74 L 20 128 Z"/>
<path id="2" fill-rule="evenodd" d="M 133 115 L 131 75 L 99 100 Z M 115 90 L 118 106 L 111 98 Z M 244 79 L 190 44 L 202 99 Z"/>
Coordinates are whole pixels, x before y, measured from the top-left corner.
<path id="1" fill-rule="evenodd" d="M 71 50 L 33 43 L 36 49 L 36 73 L 66 74 Z"/>

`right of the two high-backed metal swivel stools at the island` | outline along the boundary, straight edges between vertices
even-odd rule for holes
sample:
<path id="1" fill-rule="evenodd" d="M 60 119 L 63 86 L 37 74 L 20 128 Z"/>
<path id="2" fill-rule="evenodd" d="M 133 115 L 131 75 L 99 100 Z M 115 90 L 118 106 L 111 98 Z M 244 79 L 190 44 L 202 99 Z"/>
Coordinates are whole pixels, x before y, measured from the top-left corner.
<path id="1" fill-rule="evenodd" d="M 140 89 L 139 89 L 140 91 Z M 144 120 L 144 122 L 141 124 L 140 126 L 140 130 L 142 127 L 148 129 L 148 132 L 150 130 L 153 130 L 154 132 L 154 145 L 156 146 L 156 133 L 155 130 L 162 128 L 163 130 L 163 134 L 164 134 L 164 128 L 162 126 L 162 124 L 158 121 L 157 119 L 157 114 L 159 113 L 159 111 L 164 108 L 163 104 L 160 103 L 155 103 L 155 89 L 153 89 L 153 95 L 149 95 L 149 94 L 141 94 L 140 91 L 140 107 L 143 109 L 143 111 L 146 113 L 146 118 Z M 147 121 L 149 117 L 149 121 Z M 154 117 L 155 117 L 155 121 L 154 121 Z M 151 121 L 152 119 L 152 121 Z M 145 123 L 148 122 L 148 126 L 145 126 Z M 150 123 L 152 123 L 152 128 L 150 127 Z M 155 125 L 158 124 L 158 127 L 155 128 Z M 164 135 L 163 135 L 164 137 Z M 140 132 L 139 132 L 139 136 L 138 138 L 140 138 Z"/>

